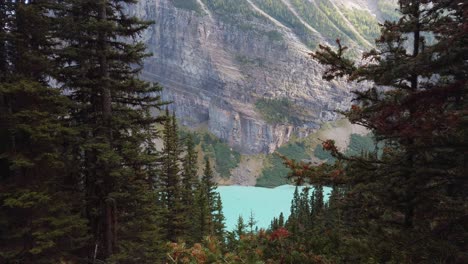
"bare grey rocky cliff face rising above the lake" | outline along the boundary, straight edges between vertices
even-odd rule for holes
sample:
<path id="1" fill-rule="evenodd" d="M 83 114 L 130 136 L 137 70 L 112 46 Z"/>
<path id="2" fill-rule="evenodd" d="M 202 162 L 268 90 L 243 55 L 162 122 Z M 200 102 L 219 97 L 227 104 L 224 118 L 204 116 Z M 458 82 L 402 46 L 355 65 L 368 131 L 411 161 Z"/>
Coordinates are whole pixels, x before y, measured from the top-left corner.
<path id="1" fill-rule="evenodd" d="M 292 134 L 305 136 L 335 119 L 335 110 L 349 107 L 355 88 L 321 79 L 322 67 L 307 52 L 314 41 L 331 43 L 333 37 L 301 17 L 297 2 L 277 0 L 280 6 L 270 8 L 263 0 L 139 1 L 130 13 L 155 21 L 141 36 L 153 54 L 142 77 L 164 86 L 163 97 L 174 102 L 184 125 L 207 125 L 243 153 L 271 153 Z M 347 2 L 333 4 L 353 10 Z M 371 13 L 373 6 L 364 6 Z M 275 8 L 289 12 L 307 35 Z M 348 42 L 359 45 L 360 38 Z M 264 121 L 255 107 L 260 98 L 287 98 L 303 109 L 303 122 Z"/>

